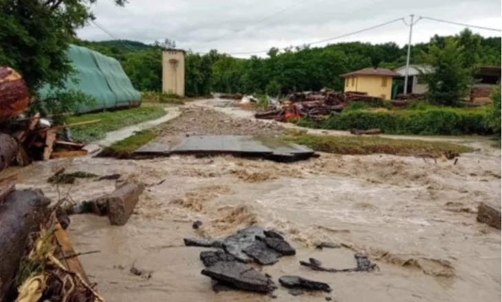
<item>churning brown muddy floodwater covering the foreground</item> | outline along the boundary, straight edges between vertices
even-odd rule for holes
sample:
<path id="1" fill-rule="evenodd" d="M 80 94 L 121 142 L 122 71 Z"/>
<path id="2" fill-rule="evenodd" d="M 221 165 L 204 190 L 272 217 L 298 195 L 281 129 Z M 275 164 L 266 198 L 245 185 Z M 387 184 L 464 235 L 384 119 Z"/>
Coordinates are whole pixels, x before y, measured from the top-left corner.
<path id="1" fill-rule="evenodd" d="M 462 154 L 456 165 L 380 154 L 321 154 L 297 163 L 86 156 L 7 172 L 19 172 L 19 188 L 41 188 L 53 200 L 89 200 L 115 187 L 115 181 L 93 179 L 47 183 L 61 167 L 149 185 L 123 227 L 72 216 L 68 231 L 76 251 L 100 251 L 80 261 L 107 301 L 500 301 L 501 233 L 476 222 L 479 202 L 501 200 L 500 155 L 487 146 Z M 201 229 L 192 229 L 195 220 Z M 276 283 L 283 275 L 324 281 L 333 292 L 292 297 L 279 288 L 275 300 L 212 292 L 200 273 L 202 249 L 183 246 L 183 238 L 224 237 L 252 224 L 283 231 L 297 251 L 260 270 Z M 320 241 L 344 247 L 321 251 L 315 248 Z M 298 264 L 315 257 L 330 268 L 353 267 L 356 251 L 380 271 L 316 272 Z M 132 275 L 133 265 L 151 278 Z"/>

